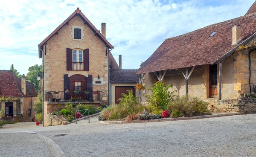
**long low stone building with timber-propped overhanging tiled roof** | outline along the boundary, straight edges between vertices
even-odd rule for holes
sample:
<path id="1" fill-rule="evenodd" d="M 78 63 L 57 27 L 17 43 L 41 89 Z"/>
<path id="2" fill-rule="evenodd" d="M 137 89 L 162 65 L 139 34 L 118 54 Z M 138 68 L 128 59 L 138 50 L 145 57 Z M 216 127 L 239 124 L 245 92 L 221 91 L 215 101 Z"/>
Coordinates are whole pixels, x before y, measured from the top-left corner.
<path id="1" fill-rule="evenodd" d="M 141 83 L 165 81 L 178 96 L 211 100 L 215 111 L 238 110 L 233 100 L 256 85 L 256 51 L 239 49 L 256 40 L 255 15 L 256 2 L 244 16 L 166 39 L 137 70 Z"/>

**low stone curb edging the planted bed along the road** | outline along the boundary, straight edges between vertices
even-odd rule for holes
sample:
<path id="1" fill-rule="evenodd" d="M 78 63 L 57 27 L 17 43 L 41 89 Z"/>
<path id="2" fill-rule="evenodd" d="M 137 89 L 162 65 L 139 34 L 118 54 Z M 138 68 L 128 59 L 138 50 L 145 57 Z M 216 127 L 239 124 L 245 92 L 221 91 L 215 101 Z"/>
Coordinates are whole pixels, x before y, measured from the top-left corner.
<path id="1" fill-rule="evenodd" d="M 143 123 L 143 122 L 166 122 L 166 121 L 175 121 L 175 120 L 189 120 L 189 119 L 203 119 L 203 118 L 212 118 L 219 116 L 233 116 L 243 114 L 244 112 L 230 112 L 230 113 L 219 113 L 219 114 L 210 114 L 204 116 L 190 116 L 190 117 L 180 117 L 180 118 L 163 118 L 163 119 L 148 119 L 148 120 L 133 120 L 130 123 Z M 99 121 L 100 124 L 127 124 L 126 121 Z"/>

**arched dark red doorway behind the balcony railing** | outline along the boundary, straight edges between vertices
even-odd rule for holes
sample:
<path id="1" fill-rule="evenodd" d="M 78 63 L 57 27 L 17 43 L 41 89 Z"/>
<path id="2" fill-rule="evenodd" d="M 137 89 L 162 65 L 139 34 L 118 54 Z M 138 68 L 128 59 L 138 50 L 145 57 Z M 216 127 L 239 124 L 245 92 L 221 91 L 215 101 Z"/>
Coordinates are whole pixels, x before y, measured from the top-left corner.
<path id="1" fill-rule="evenodd" d="M 84 91 L 87 91 L 87 77 L 83 75 L 73 75 L 69 78 L 70 97 L 78 100 L 87 100 Z"/>

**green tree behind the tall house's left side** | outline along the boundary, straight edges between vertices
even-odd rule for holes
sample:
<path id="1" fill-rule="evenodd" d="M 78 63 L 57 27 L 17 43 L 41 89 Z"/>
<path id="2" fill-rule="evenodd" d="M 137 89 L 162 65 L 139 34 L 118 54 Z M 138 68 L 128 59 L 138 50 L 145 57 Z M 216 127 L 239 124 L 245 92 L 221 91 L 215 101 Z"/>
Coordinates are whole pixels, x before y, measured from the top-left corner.
<path id="1" fill-rule="evenodd" d="M 42 65 L 35 64 L 32 67 L 29 67 L 29 73 L 26 75 L 26 80 L 30 81 L 34 84 L 35 90 L 39 93 L 41 90 L 41 81 L 38 81 L 36 79 L 36 76 L 38 75 L 38 72 L 42 72 Z"/>

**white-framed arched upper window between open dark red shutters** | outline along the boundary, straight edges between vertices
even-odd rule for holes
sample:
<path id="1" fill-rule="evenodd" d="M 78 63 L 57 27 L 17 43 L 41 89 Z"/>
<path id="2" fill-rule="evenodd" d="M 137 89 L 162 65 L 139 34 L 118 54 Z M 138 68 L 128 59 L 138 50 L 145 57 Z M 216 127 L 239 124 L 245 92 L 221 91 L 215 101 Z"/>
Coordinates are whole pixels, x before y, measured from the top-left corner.
<path id="1" fill-rule="evenodd" d="M 83 51 L 73 49 L 73 70 L 84 70 Z"/>

